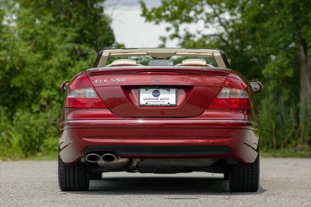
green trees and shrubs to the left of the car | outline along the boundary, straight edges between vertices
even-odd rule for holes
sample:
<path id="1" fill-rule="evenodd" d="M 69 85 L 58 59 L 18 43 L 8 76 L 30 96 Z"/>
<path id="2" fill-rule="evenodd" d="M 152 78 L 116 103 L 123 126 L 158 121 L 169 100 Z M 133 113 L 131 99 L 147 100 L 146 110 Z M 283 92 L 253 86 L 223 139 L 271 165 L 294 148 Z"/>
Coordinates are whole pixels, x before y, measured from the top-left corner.
<path id="1" fill-rule="evenodd" d="M 0 0 L 0 157 L 57 152 L 60 84 L 117 46 L 103 0 Z"/>

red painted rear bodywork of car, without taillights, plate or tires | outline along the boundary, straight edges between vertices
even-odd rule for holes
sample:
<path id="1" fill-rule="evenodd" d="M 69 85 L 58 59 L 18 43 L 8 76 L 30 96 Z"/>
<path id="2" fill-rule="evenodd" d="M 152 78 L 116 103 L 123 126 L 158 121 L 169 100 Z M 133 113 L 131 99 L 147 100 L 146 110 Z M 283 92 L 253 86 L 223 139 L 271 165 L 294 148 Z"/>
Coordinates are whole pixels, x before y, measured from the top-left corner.
<path id="1" fill-rule="evenodd" d="M 156 86 L 176 86 L 177 106 L 138 106 L 138 87 L 155 86 L 153 73 L 137 74 L 137 72 L 146 73 L 146 70 L 170 72 L 168 75 L 161 74 L 162 82 Z M 85 76 L 86 73 L 78 76 L 81 75 Z M 130 68 L 89 70 L 87 75 L 108 109 L 62 108 L 58 124 L 60 156 L 68 165 L 73 165 L 85 156 L 81 151 L 86 146 L 227 146 L 233 153 L 120 156 L 128 158 L 232 157 L 246 165 L 253 163 L 258 155 L 256 148 L 259 141 L 259 112 L 249 83 L 235 71 Z M 217 96 L 228 75 L 242 80 L 247 85 L 251 103 L 249 109 L 208 109 L 208 105 Z M 124 78 L 125 82 L 95 83 L 99 79 L 116 78 Z"/>

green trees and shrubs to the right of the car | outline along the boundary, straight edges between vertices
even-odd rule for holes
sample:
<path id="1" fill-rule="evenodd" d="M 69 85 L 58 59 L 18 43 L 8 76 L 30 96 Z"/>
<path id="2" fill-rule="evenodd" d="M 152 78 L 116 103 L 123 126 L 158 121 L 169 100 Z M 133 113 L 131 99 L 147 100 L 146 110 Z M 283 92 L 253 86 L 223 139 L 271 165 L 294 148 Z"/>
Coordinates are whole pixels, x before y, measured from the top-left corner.
<path id="1" fill-rule="evenodd" d="M 226 52 L 232 69 L 248 79 L 263 83 L 263 91 L 256 94 L 261 112 L 262 149 L 291 148 L 300 151 L 307 146 L 310 150 L 311 101 L 307 98 L 307 101 L 299 103 L 299 94 L 311 86 L 310 79 L 306 86 L 299 86 L 304 64 L 301 56 L 305 55 L 311 61 L 309 1 L 161 2 L 159 7 L 147 8 L 141 1 L 141 7 L 142 16 L 147 21 L 171 25 L 167 28 L 168 35 L 160 38 L 162 46 L 168 39 L 176 38 L 181 47 L 221 48 Z M 199 31 L 185 29 L 185 24 L 193 22 L 203 22 L 204 28 Z M 303 52 L 299 50 L 300 46 Z M 311 73 L 311 65 L 306 75 L 308 73 Z M 302 110 L 304 104 L 309 110 Z"/>

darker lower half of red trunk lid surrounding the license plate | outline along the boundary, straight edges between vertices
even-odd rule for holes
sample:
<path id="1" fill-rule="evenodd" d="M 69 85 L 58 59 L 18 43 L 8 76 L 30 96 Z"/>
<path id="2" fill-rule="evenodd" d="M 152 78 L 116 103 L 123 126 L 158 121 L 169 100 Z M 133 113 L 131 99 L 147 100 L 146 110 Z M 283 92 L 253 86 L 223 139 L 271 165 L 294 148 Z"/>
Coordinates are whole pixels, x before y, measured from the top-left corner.
<path id="1" fill-rule="evenodd" d="M 121 117 L 192 117 L 201 114 L 220 87 L 177 86 L 177 106 L 138 106 L 138 87 L 96 87 L 107 107 Z"/>

